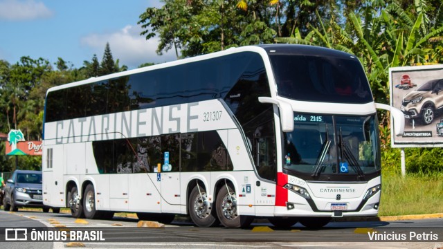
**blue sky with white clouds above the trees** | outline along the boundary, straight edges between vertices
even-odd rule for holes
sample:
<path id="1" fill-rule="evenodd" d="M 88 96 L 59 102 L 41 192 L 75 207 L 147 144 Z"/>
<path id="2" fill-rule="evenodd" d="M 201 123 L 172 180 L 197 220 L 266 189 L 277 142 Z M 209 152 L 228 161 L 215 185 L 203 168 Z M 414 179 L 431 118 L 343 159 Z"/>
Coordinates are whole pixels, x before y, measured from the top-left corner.
<path id="1" fill-rule="evenodd" d="M 57 58 L 83 66 L 94 54 L 102 61 L 109 42 L 114 60 L 129 69 L 146 62 L 176 59 L 170 50 L 159 56 L 158 36 L 146 40 L 137 24 L 148 7 L 161 7 L 154 0 L 0 0 L 0 59 L 10 64 L 20 57 Z"/>

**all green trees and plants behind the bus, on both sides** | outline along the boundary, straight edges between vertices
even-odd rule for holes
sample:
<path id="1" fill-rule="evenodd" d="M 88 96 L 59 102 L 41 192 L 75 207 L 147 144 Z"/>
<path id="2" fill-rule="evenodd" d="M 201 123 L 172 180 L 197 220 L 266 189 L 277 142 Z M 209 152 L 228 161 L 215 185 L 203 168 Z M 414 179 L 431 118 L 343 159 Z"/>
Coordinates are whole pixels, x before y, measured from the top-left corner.
<path id="1" fill-rule="evenodd" d="M 146 39 L 159 36 L 159 55 L 172 49 L 177 59 L 273 42 L 343 50 L 359 57 L 375 100 L 388 103 L 388 68 L 443 62 L 442 7 L 440 0 L 164 0 L 161 8 L 141 13 L 138 24 Z M 38 140 L 46 89 L 125 69 L 114 62 L 109 44 L 101 64 L 93 55 L 82 68 L 62 58 L 55 68 L 42 58 L 0 60 L 0 131 L 17 127 L 26 139 Z M 384 170 L 397 172 L 399 150 L 390 148 L 387 113 L 379 113 L 379 121 Z M 406 149 L 407 171 L 442 172 L 442 153 Z M 35 167 L 21 158 L 23 167 Z M 0 156 L 3 171 L 12 169 L 12 161 Z"/>

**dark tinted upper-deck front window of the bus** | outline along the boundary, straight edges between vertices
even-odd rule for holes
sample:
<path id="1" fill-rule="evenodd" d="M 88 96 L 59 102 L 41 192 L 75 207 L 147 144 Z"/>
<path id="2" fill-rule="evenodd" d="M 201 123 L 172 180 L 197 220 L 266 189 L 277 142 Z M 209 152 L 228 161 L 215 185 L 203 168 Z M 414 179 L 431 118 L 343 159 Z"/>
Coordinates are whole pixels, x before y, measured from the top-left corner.
<path id="1" fill-rule="evenodd" d="M 271 55 L 278 95 L 311 102 L 368 103 L 372 93 L 358 59 Z"/>

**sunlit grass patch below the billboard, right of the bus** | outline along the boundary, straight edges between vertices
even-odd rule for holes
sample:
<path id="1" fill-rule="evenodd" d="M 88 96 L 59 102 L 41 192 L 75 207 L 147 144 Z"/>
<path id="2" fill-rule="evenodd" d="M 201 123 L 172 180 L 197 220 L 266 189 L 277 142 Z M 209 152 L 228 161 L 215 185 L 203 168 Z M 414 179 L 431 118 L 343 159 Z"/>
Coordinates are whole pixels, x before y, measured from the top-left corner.
<path id="1" fill-rule="evenodd" d="M 379 216 L 443 213 L 443 174 L 381 178 Z"/>

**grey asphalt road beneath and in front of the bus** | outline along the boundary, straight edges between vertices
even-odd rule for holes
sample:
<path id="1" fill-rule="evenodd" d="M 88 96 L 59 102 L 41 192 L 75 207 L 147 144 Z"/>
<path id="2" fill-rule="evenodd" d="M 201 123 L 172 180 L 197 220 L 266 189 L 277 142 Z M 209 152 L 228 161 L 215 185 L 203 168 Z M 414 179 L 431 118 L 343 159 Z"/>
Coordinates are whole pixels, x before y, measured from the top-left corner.
<path id="1" fill-rule="evenodd" d="M 310 230 L 299 223 L 290 229 L 278 230 L 266 222 L 253 223 L 245 229 L 197 228 L 183 220 L 165 228 L 138 228 L 137 219 L 117 216 L 110 220 L 76 220 L 64 213 L 0 211 L 0 222 L 3 230 L 101 231 L 104 240 L 72 245 L 86 248 L 443 248 L 443 219 L 331 222 L 320 230 Z M 371 240 L 370 234 L 377 236 L 375 232 L 381 237 Z M 415 236 L 414 242 L 409 241 L 411 235 Z M 0 239 L 4 238 L 4 234 L 0 234 Z M 69 245 L 69 241 L 1 242 L 0 247 L 65 248 Z"/>

